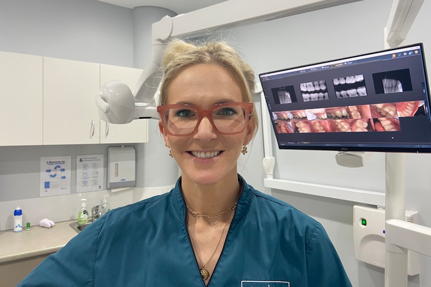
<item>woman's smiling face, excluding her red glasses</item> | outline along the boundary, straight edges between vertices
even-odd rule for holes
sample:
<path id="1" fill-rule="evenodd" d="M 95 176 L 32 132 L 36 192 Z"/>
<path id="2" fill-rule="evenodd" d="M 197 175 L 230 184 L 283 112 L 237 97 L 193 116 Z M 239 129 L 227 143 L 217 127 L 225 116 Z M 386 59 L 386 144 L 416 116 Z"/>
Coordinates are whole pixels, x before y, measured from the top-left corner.
<path id="1" fill-rule="evenodd" d="M 186 68 L 171 82 L 166 104 L 193 104 L 206 109 L 223 102 L 242 102 L 242 92 L 234 77 L 218 65 L 198 64 Z M 222 135 L 202 118 L 197 130 L 187 136 L 171 136 L 161 123 L 160 132 L 175 158 L 183 180 L 198 185 L 220 183 L 236 177 L 236 161 L 243 145 L 252 137 L 253 124 L 240 134 Z"/>

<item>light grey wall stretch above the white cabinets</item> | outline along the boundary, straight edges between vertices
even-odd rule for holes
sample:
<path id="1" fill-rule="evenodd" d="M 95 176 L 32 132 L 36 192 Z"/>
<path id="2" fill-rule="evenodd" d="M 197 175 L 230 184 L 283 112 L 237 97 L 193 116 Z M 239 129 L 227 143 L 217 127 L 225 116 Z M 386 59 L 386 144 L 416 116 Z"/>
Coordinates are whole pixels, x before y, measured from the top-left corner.
<path id="1" fill-rule="evenodd" d="M 0 1 L 0 50 L 133 66 L 132 10 L 95 0 Z"/>

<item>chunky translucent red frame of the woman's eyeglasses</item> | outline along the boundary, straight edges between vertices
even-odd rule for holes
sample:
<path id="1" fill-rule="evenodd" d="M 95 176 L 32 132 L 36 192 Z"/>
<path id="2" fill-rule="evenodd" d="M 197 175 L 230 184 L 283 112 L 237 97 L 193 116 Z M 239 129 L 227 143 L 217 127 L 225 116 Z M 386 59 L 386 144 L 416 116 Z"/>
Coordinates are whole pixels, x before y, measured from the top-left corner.
<path id="1" fill-rule="evenodd" d="M 240 106 L 240 107 L 244 108 L 245 114 L 248 113 L 248 117 L 245 117 L 244 127 L 240 131 L 233 132 L 233 133 L 220 132 L 217 129 L 217 127 L 215 126 L 214 122 L 212 121 L 212 116 L 211 116 L 212 112 L 215 109 L 218 109 L 220 107 L 226 107 L 226 106 Z M 188 133 L 188 134 L 180 134 L 180 135 L 179 134 L 173 134 L 173 133 L 169 132 L 169 130 L 167 129 L 167 127 L 166 127 L 166 117 L 165 117 L 166 110 L 168 110 L 168 109 L 174 109 L 174 108 L 190 108 L 190 109 L 193 109 L 193 110 L 197 111 L 197 114 L 199 115 L 199 117 L 197 119 L 196 126 L 194 127 L 194 129 L 190 133 Z M 166 130 L 166 133 L 168 135 L 171 135 L 171 136 L 189 136 L 189 135 L 193 134 L 197 130 L 197 127 L 199 126 L 200 121 L 202 120 L 203 117 L 207 117 L 208 118 L 208 120 L 211 123 L 212 127 L 214 128 L 214 130 L 216 130 L 217 133 L 219 133 L 219 134 L 223 134 L 223 135 L 235 135 L 235 134 L 239 134 L 239 133 L 243 132 L 246 129 L 246 127 L 248 125 L 248 120 L 249 120 L 249 118 L 252 115 L 252 113 L 251 113 L 252 109 L 253 109 L 253 103 L 252 102 L 221 103 L 221 104 L 215 104 L 211 108 L 208 108 L 208 109 L 202 109 L 202 108 L 200 108 L 200 107 L 198 107 L 196 105 L 192 105 L 192 104 L 175 104 L 175 105 L 161 105 L 161 106 L 157 106 L 157 112 L 160 115 L 161 124 L 162 124 L 163 128 Z"/>

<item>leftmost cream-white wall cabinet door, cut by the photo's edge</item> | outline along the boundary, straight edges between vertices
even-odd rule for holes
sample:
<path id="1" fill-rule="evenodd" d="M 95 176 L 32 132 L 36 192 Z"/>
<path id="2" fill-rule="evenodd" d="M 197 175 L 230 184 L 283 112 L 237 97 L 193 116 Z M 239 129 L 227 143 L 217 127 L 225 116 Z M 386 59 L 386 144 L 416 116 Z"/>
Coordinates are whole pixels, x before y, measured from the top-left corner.
<path id="1" fill-rule="evenodd" d="M 42 144 L 42 57 L 0 52 L 0 146 Z"/>

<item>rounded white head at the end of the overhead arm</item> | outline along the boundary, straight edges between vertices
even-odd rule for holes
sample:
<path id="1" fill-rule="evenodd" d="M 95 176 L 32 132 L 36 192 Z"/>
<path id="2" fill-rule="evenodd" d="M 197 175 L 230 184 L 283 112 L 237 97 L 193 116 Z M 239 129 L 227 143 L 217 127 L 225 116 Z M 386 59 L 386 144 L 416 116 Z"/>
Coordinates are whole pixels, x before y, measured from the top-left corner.
<path id="1" fill-rule="evenodd" d="M 96 95 L 99 117 L 113 124 L 126 124 L 135 117 L 134 97 L 120 80 L 105 83 Z"/>

